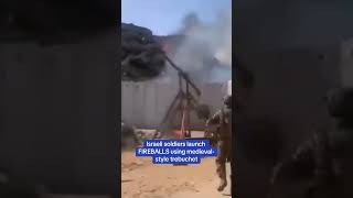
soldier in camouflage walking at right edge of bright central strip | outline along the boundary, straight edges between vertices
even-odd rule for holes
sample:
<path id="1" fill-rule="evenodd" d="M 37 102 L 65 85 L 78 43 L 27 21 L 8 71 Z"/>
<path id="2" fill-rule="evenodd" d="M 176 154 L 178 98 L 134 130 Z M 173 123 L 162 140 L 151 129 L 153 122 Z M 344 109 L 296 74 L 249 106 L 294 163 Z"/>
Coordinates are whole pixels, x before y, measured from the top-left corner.
<path id="1" fill-rule="evenodd" d="M 226 162 L 232 162 L 232 96 L 225 97 L 224 108 L 217 111 L 206 122 L 206 128 L 210 125 L 218 127 L 218 156 L 216 157 L 216 172 L 221 178 L 221 184 L 217 190 L 222 191 L 227 186 Z"/>

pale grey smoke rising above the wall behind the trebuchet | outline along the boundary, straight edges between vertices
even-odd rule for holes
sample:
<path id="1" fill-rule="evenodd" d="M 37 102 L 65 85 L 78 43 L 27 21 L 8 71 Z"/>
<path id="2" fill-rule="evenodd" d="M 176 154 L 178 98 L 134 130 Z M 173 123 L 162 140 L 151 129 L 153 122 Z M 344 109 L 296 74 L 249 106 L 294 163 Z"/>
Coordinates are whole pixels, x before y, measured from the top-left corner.
<path id="1" fill-rule="evenodd" d="M 220 82 L 232 78 L 232 14 L 221 12 L 211 23 L 188 14 L 178 34 L 185 36 L 173 56 L 174 63 L 194 81 Z"/>

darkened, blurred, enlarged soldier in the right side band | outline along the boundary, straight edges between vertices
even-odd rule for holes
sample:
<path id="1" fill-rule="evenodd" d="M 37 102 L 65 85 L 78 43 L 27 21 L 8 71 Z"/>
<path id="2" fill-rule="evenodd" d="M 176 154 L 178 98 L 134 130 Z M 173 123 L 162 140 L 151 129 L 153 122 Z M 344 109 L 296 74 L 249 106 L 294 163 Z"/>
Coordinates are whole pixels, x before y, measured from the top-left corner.
<path id="1" fill-rule="evenodd" d="M 352 197 L 353 172 L 353 89 L 341 89 L 328 97 L 333 124 L 324 124 L 300 145 L 288 160 L 279 163 L 271 183 L 308 180 L 303 197 Z M 342 172 L 342 173 L 341 173 Z M 288 196 L 286 196 L 288 197 Z"/>

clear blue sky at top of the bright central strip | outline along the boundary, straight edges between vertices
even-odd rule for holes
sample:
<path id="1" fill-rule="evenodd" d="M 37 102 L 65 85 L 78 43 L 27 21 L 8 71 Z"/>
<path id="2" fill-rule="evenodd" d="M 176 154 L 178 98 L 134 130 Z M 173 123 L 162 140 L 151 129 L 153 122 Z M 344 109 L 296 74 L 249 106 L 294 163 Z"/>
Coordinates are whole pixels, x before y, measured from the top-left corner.
<path id="1" fill-rule="evenodd" d="M 220 11 L 232 8 L 232 0 L 121 0 L 121 22 L 150 29 L 156 35 L 176 32 L 184 15 L 194 12 L 212 22 Z"/>

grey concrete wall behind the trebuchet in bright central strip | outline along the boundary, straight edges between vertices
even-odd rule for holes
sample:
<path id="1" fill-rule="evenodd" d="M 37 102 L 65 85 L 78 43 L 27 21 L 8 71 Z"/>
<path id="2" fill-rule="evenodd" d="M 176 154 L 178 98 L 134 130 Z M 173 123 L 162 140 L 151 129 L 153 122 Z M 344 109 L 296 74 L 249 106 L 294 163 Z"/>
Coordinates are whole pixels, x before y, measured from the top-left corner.
<path id="1" fill-rule="evenodd" d="M 210 84 L 199 87 L 200 102 L 211 107 L 212 113 L 222 106 L 222 98 L 227 94 L 227 82 Z M 173 82 L 122 82 L 121 84 L 121 119 L 138 128 L 157 129 L 172 100 L 179 91 Z M 174 123 L 180 121 L 176 116 Z M 191 127 L 203 129 L 204 122 L 193 113 Z"/>

